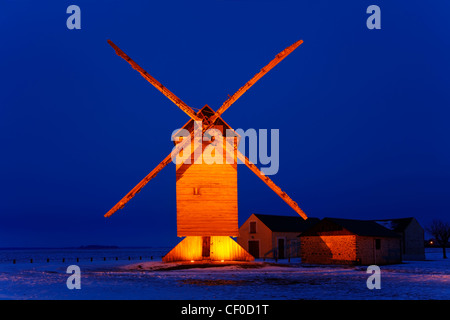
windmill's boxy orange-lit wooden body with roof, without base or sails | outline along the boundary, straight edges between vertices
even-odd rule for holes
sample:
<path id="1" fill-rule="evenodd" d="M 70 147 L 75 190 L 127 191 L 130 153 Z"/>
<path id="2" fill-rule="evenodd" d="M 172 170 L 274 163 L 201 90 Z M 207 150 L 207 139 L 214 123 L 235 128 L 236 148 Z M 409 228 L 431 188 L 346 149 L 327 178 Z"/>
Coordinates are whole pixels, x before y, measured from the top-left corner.
<path id="1" fill-rule="evenodd" d="M 205 106 L 200 110 L 200 114 L 214 114 L 214 111 Z M 212 128 L 217 129 L 224 138 L 231 138 L 233 151 L 236 150 L 239 136 L 225 121 L 217 119 Z M 191 132 L 193 120 L 190 120 L 183 129 Z M 227 132 L 231 137 L 227 136 Z M 176 138 L 173 140 L 176 141 Z M 195 148 L 193 140 L 191 150 Z M 189 163 L 176 164 L 177 235 L 236 237 L 237 162 L 231 157 L 232 161 L 228 161 L 231 163 L 227 163 L 227 154 L 223 152 L 226 148 L 225 143 L 219 146 L 221 142 L 218 140 L 204 141 L 208 138 L 202 140 L 201 159 L 195 159 L 192 152 Z"/>

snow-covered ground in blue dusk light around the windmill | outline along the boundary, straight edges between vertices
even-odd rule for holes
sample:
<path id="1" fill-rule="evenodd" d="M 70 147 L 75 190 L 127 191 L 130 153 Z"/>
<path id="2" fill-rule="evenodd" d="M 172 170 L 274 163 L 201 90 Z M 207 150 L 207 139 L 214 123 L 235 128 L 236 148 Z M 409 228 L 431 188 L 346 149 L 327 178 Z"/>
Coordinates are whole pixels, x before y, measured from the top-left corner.
<path id="1" fill-rule="evenodd" d="M 366 267 L 303 266 L 295 259 L 180 268 L 160 258 L 29 263 L 27 257 L 0 262 L 0 299 L 450 299 L 450 259 L 440 249 L 426 256 L 381 266 L 379 290 L 367 288 Z M 81 269 L 79 290 L 66 286 L 71 264 Z"/>

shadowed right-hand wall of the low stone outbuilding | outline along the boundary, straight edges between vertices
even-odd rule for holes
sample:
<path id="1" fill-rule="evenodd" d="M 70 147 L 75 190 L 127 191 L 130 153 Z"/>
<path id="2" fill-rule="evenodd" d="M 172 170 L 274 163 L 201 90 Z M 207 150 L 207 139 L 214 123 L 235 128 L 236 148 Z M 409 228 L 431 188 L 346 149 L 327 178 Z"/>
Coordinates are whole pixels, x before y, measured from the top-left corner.
<path id="1" fill-rule="evenodd" d="M 376 248 L 377 239 L 380 241 L 379 249 Z M 384 265 L 402 261 L 400 238 L 357 236 L 356 248 L 358 264 Z"/>

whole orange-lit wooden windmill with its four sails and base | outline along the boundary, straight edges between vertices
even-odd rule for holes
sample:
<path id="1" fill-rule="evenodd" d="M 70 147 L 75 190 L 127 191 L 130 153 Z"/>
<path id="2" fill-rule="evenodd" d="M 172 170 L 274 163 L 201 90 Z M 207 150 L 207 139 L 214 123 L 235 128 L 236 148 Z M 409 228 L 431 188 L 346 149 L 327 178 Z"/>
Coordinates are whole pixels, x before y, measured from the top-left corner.
<path id="1" fill-rule="evenodd" d="M 172 152 L 112 207 L 105 214 L 105 217 L 110 217 L 117 210 L 123 208 L 158 172 L 172 162 L 174 156 L 179 155 L 180 152 L 184 153 L 190 143 L 191 148 L 187 148 L 187 150 L 191 151 L 190 156 L 183 155 L 184 159 L 190 159 L 190 161 L 184 161 L 176 165 L 177 235 L 185 238 L 163 257 L 163 261 L 253 260 L 249 253 L 230 238 L 238 235 L 237 161 L 226 161 L 226 157 L 231 157 L 234 160 L 239 159 L 242 163 L 245 163 L 253 173 L 302 218 L 307 218 L 295 201 L 269 177 L 264 175 L 246 156 L 239 152 L 237 149 L 239 136 L 221 118 L 225 110 L 281 60 L 301 45 L 303 43 L 302 40 L 295 42 L 276 55 L 250 81 L 230 96 L 217 111 L 205 105 L 198 112 L 195 112 L 148 74 L 112 41 L 108 40 L 108 43 L 114 48 L 118 56 L 125 59 L 133 69 L 138 71 L 148 82 L 190 117 L 190 120 L 182 127 L 182 129 L 189 132 L 190 139 L 178 140 L 176 139 L 178 133 L 175 133 L 174 141 L 176 142 Z M 198 126 L 199 123 L 201 123 L 200 127 Z M 217 140 L 202 139 L 201 143 L 195 144 L 197 132 L 200 132 L 200 136 L 203 136 L 205 132 L 210 132 L 211 129 L 219 130 L 219 136 L 223 138 Z M 221 150 L 224 150 L 222 163 L 207 161 L 208 155 L 206 155 L 206 150 L 208 150 L 210 144 L 214 144 L 215 147 L 221 146 Z M 198 161 L 195 155 L 199 152 L 202 157 Z"/>

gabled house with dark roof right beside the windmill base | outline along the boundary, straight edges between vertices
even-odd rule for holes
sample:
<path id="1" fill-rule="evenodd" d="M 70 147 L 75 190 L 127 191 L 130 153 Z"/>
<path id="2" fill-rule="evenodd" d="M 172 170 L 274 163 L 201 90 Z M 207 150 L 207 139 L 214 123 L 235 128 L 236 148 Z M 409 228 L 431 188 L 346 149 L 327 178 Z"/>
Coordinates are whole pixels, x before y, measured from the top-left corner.
<path id="1" fill-rule="evenodd" d="M 255 258 L 300 256 L 299 235 L 320 220 L 299 216 L 252 214 L 239 228 L 237 242 Z"/>

